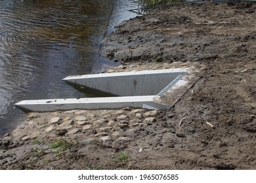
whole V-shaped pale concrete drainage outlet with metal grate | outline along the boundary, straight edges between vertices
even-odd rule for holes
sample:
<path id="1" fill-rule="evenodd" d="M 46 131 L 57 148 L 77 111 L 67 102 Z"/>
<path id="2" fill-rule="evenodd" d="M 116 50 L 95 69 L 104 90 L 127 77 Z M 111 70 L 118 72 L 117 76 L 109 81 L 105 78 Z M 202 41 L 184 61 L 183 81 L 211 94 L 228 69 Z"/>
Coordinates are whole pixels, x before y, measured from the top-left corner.
<path id="1" fill-rule="evenodd" d="M 198 80 L 190 73 L 190 69 L 182 68 L 68 76 L 63 80 L 69 84 L 113 97 L 28 100 L 15 105 L 26 112 L 124 107 L 169 109 Z"/>

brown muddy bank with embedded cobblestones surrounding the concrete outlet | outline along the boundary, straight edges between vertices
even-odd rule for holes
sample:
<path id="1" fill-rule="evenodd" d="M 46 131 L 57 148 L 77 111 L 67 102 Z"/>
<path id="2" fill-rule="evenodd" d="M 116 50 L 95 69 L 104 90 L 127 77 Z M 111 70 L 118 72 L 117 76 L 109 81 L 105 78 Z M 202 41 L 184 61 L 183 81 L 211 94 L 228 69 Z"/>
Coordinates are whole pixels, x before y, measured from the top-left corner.
<path id="1" fill-rule="evenodd" d="M 200 80 L 171 110 L 32 114 L 1 139 L 0 169 L 255 169 L 255 11 L 203 3 L 123 22 L 105 42 L 120 70 L 203 64 Z"/>

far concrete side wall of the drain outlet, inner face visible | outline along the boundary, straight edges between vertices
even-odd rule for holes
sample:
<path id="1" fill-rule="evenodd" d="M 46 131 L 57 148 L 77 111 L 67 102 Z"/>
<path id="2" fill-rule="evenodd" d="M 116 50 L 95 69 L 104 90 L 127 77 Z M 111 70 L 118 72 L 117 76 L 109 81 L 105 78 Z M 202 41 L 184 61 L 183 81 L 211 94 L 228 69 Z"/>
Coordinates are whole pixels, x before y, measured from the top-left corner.
<path id="1" fill-rule="evenodd" d="M 188 69 L 164 69 L 127 73 L 68 76 L 63 80 L 117 96 L 157 95 Z"/>

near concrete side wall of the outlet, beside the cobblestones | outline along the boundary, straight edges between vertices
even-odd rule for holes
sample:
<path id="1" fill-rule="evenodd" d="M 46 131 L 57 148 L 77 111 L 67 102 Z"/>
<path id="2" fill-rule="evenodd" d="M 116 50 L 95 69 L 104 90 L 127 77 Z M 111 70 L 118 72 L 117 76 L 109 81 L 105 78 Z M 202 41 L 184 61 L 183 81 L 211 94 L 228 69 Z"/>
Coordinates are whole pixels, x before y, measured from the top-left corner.
<path id="1" fill-rule="evenodd" d="M 98 97 L 82 99 L 44 99 L 28 100 L 16 103 L 16 107 L 26 112 L 46 112 L 73 109 L 108 109 L 108 108 L 156 108 L 169 109 L 165 105 L 154 102 L 155 95 L 135 97 Z"/>

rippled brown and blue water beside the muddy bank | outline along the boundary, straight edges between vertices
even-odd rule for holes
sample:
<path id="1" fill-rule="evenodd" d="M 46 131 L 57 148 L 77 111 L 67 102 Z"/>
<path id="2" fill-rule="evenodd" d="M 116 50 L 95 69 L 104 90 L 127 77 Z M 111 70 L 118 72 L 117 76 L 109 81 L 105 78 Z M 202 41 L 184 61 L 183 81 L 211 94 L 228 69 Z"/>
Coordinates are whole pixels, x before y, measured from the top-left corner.
<path id="1" fill-rule="evenodd" d="M 24 99 L 86 97 L 61 79 L 114 63 L 100 41 L 137 1 L 0 0 L 0 136 L 26 115 Z"/>

